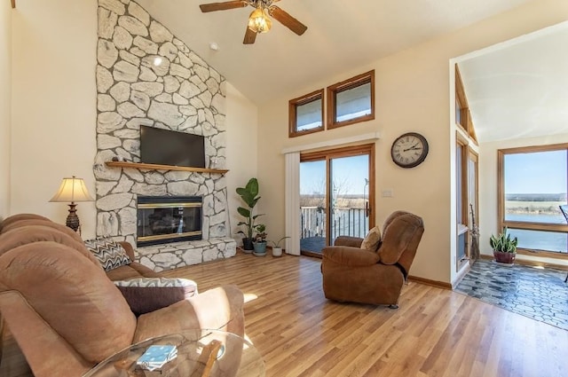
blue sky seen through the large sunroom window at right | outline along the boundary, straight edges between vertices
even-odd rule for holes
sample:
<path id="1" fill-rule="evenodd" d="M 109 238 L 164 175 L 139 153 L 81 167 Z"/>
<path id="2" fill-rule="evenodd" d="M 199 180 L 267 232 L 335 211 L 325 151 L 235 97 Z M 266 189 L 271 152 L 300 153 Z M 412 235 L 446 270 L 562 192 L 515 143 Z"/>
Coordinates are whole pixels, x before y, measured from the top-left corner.
<path id="1" fill-rule="evenodd" d="M 565 193 L 566 150 L 505 155 L 506 193 Z"/>

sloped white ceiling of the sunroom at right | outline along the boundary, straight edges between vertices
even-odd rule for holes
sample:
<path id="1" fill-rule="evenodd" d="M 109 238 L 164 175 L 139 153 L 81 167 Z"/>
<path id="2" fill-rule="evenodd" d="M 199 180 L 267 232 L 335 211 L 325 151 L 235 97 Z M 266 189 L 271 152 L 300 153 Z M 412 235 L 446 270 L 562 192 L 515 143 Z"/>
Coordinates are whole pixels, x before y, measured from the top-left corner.
<path id="1" fill-rule="evenodd" d="M 479 142 L 568 134 L 568 22 L 459 63 Z"/>

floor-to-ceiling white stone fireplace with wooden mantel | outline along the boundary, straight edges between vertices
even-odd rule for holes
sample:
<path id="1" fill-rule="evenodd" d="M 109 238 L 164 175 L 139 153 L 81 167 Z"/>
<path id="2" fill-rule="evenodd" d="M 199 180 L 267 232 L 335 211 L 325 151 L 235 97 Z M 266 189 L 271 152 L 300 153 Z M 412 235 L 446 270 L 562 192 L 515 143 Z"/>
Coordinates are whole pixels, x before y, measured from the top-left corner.
<path id="1" fill-rule="evenodd" d="M 225 78 L 136 2 L 99 0 L 98 14 L 97 234 L 137 246 L 155 271 L 235 255 L 225 177 L 214 170 L 225 167 Z M 140 125 L 205 137 L 213 170 L 107 166 L 140 162 Z M 137 245 L 140 198 L 177 196 L 201 198 L 200 240 Z"/>

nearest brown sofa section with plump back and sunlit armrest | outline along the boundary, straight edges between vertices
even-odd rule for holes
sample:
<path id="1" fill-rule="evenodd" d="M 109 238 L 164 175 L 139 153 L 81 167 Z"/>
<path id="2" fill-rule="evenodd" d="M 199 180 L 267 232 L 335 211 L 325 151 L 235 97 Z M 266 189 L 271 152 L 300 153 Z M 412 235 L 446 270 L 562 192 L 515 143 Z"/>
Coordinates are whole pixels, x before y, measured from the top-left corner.
<path id="1" fill-rule="evenodd" d="M 38 241 L 0 255 L 0 313 L 36 377 L 79 376 L 118 350 L 193 328 L 244 334 L 243 296 L 226 286 L 140 315 L 73 247 Z"/>

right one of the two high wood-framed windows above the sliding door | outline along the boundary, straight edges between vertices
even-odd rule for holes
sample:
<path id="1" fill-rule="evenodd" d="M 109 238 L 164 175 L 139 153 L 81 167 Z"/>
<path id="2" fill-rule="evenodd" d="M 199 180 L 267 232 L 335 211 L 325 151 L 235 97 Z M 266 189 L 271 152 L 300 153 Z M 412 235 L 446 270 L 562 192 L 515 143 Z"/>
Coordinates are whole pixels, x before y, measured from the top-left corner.
<path id="1" fill-rule="evenodd" d="M 327 128 L 375 119 L 375 70 L 327 88 Z"/>

